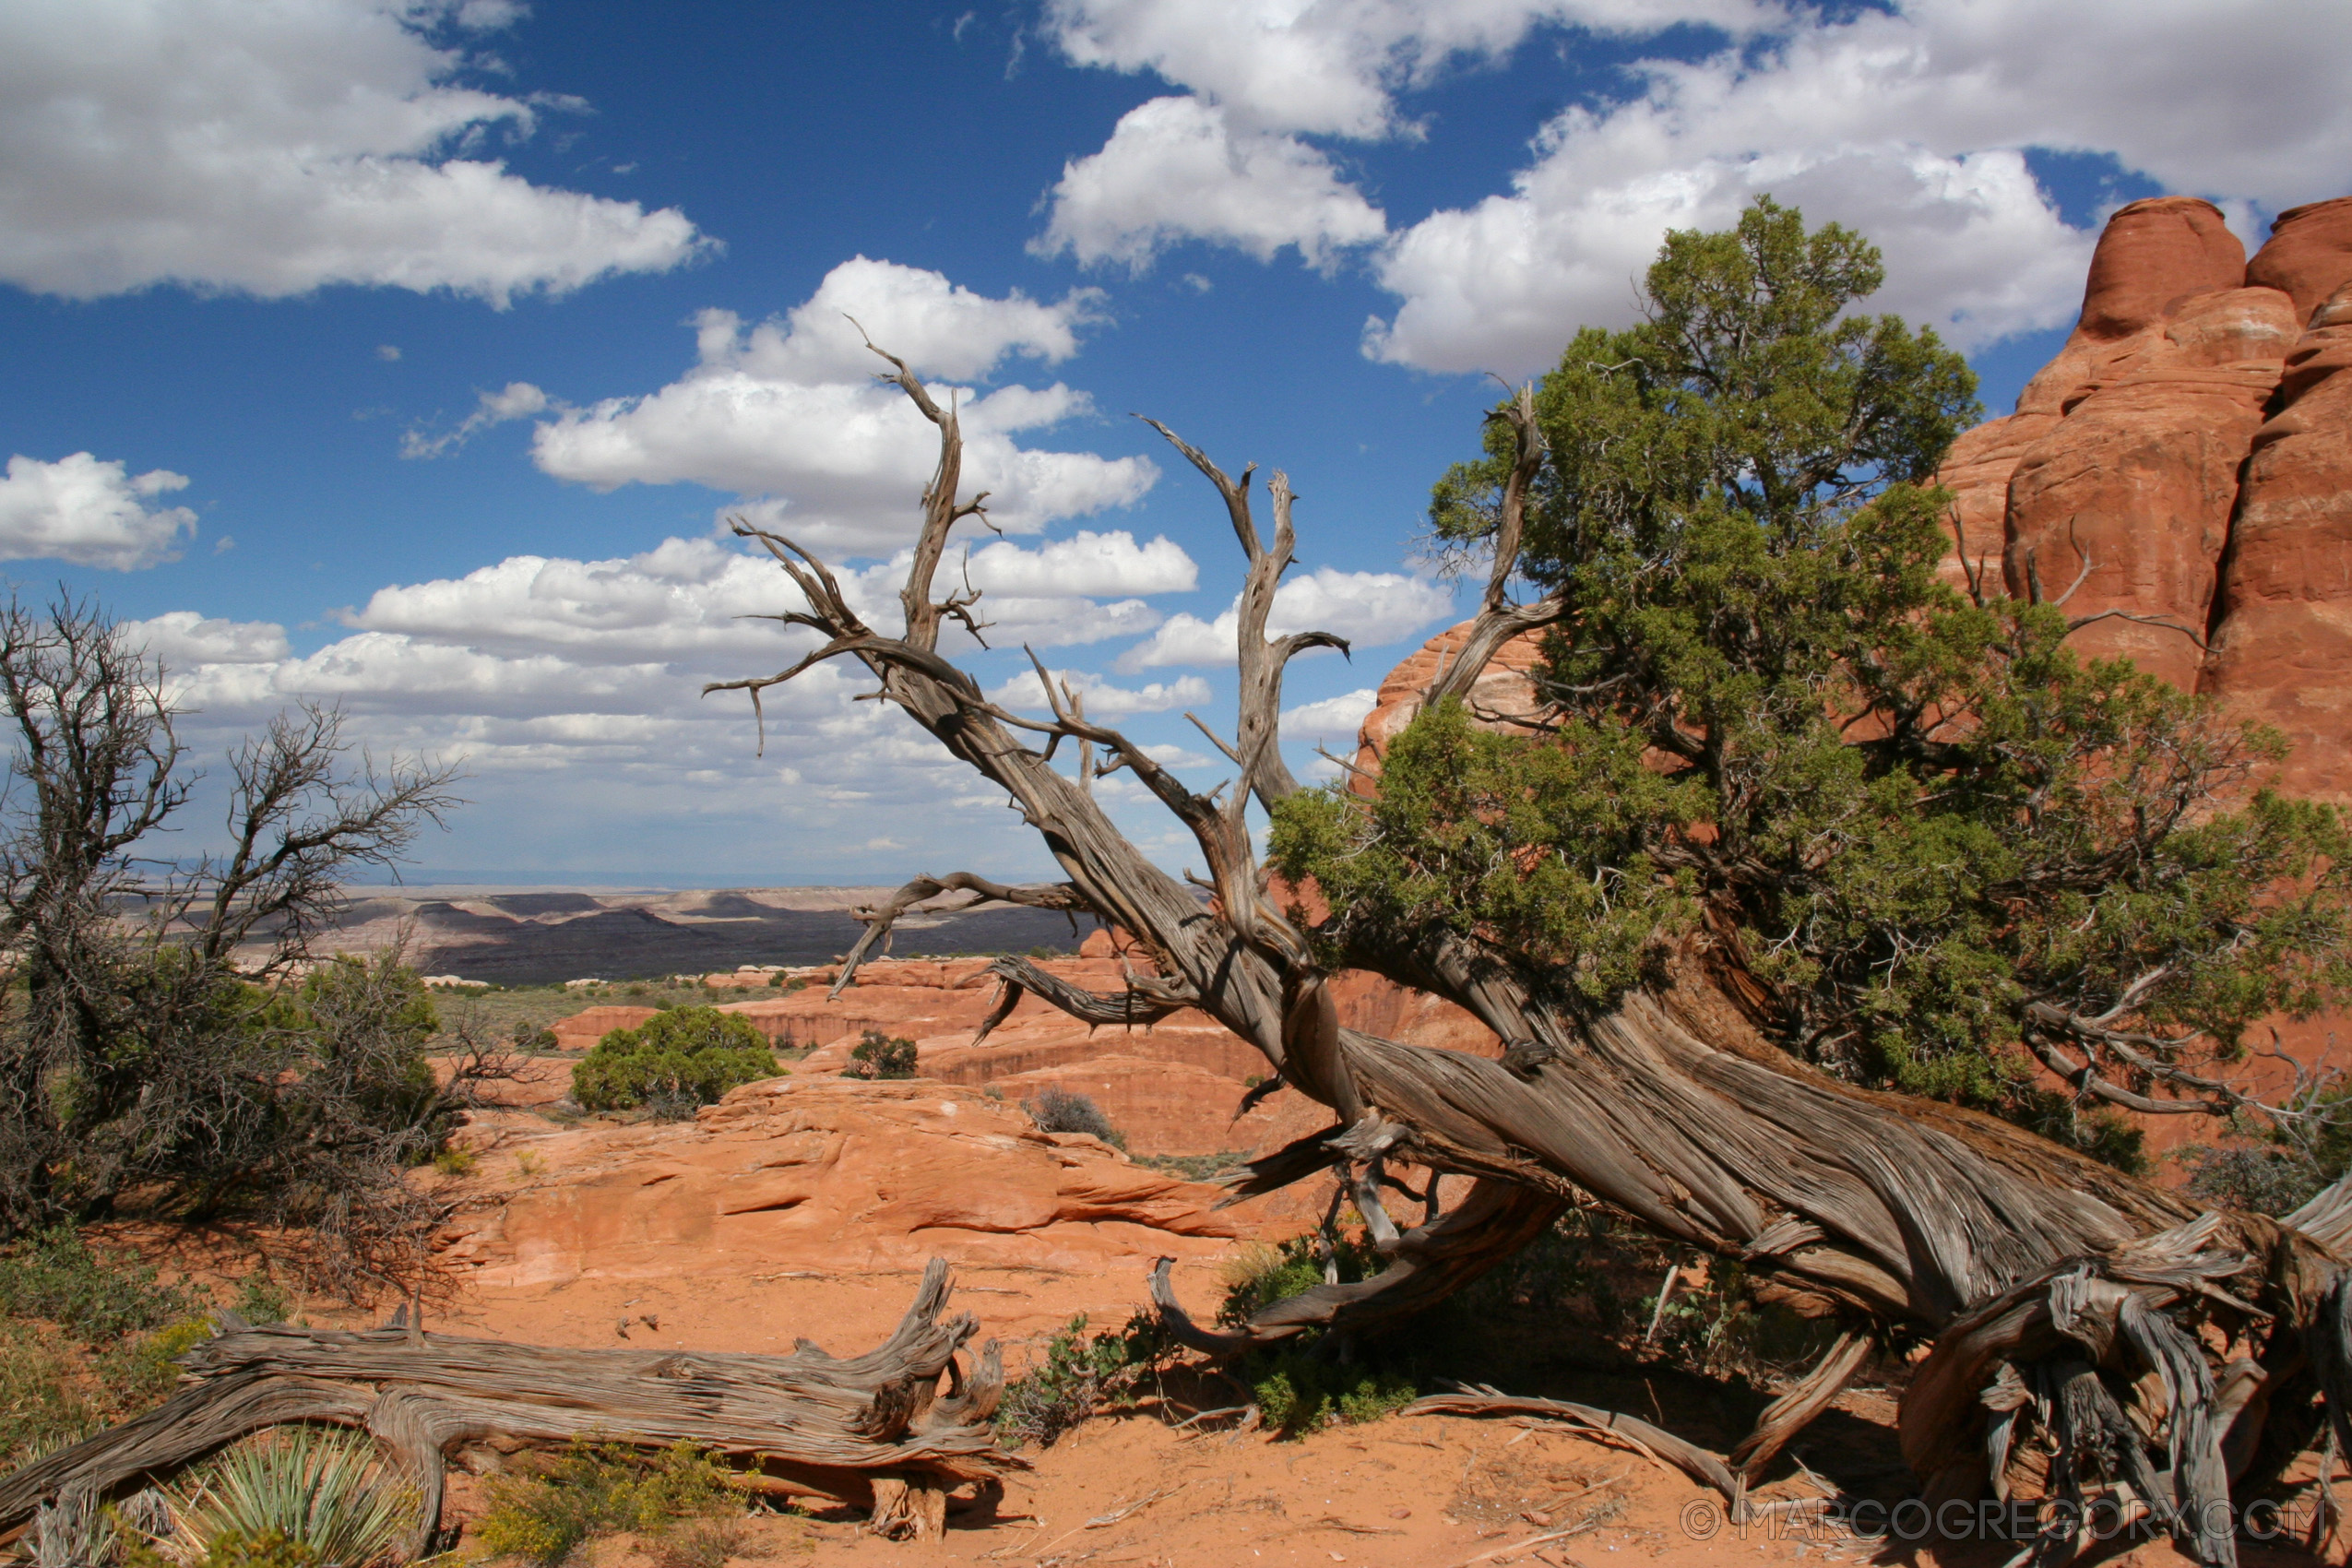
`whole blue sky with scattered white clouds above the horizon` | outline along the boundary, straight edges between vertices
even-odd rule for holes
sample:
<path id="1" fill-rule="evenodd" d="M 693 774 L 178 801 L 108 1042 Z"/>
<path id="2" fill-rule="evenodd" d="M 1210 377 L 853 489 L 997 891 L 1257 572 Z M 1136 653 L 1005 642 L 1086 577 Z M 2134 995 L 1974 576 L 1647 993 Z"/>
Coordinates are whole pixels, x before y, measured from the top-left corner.
<path id="1" fill-rule="evenodd" d="M 2347 68 L 2338 0 L 16 0 L 0 569 L 136 621 L 198 755 L 310 696 L 463 757 L 428 877 L 1037 872 L 847 668 L 767 757 L 696 698 L 800 649 L 722 517 L 889 595 L 931 449 L 844 310 L 971 409 L 981 679 L 1033 642 L 1211 783 L 1237 559 L 1129 411 L 1301 491 L 1287 611 L 1359 649 L 1294 665 L 1308 766 L 1454 618 L 1477 371 L 1628 320 L 1668 226 L 1863 228 L 2002 411 L 2114 205 L 2343 195 Z"/>

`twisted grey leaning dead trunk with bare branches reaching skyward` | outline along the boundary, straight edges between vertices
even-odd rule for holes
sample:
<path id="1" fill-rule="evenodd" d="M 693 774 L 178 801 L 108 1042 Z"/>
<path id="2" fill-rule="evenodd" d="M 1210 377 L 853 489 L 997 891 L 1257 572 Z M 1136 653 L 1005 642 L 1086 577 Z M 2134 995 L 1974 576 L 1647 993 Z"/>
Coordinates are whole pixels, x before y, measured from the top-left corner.
<path id="1" fill-rule="evenodd" d="M 1296 790 L 1277 736 L 1284 663 L 1305 646 L 1345 646 L 1315 632 L 1265 637 L 1272 588 L 1294 548 L 1284 477 L 1277 473 L 1268 487 L 1275 520 L 1268 543 L 1251 517 L 1251 470 L 1235 482 L 1162 428 L 1225 501 L 1249 562 L 1237 616 L 1240 731 L 1230 745 L 1211 733 L 1240 776 L 1218 792 L 1195 795 L 1143 748 L 1089 722 L 1056 693 L 1042 665 L 1051 722 L 985 701 L 938 654 L 943 621 L 981 628 L 971 616 L 976 595 L 931 599 L 948 531 L 978 501 L 955 498 L 962 463 L 955 414 L 901 360 L 884 357 L 894 367 L 889 378 L 941 430 L 941 463 L 901 595 L 906 632 L 868 628 L 823 562 L 783 536 L 739 524 L 741 536 L 757 538 L 783 564 L 807 602 L 779 618 L 816 630 L 823 644 L 779 675 L 708 691 L 748 691 L 757 705 L 760 691 L 826 658 L 858 658 L 880 679 L 880 696 L 1011 797 L 1068 877 L 997 896 L 1091 910 L 1141 938 L 1155 959 L 1157 973 L 1131 978 L 1127 994 L 1063 997 L 1035 987 L 1042 997 L 1089 1020 L 1197 1006 L 1263 1051 L 1282 1081 L 1334 1110 L 1331 1128 L 1256 1161 L 1237 1194 L 1336 1168 L 1388 1267 L 1364 1284 L 1317 1286 L 1277 1302 L 1240 1333 L 1195 1328 L 1162 1284 L 1162 1309 L 1183 1338 L 1240 1349 L 1308 1326 L 1395 1319 L 1508 1258 L 1562 1204 L 1597 1201 L 1658 1237 L 1740 1260 L 1766 1298 L 1837 1316 L 1863 1335 L 1936 1338 L 1903 1429 L 1905 1455 L 1938 1495 L 2004 1488 L 2025 1415 L 2039 1415 L 2067 1455 L 2103 1450 L 2089 1441 L 2086 1422 L 2114 1406 L 2112 1389 L 2138 1399 L 2133 1389 L 2145 1385 L 2136 1380 L 2154 1373 L 2171 1396 L 2150 1420 L 2173 1465 L 2161 1481 L 2145 1465 L 2117 1479 L 2154 1488 L 2143 1490 L 2150 1505 L 2176 1507 L 2173 1519 L 2183 1521 L 2176 1535 L 2201 1561 L 2232 1561 L 2230 1535 L 2187 1514 L 2216 1486 L 2227 1495 L 2223 1446 L 2258 1448 L 2246 1427 L 2260 1429 L 2265 1403 L 2246 1394 L 2251 1373 L 2234 1375 L 2225 1387 L 2237 1403 L 2223 1422 L 2223 1396 L 2211 1378 L 2199 1380 L 2206 1359 L 2192 1335 L 2201 1324 L 2232 1333 L 2267 1324 L 2260 1387 L 2279 1389 L 2288 1403 L 2291 1389 L 2303 1389 L 2307 1408 L 2317 1385 L 2310 1378 L 2293 1385 L 2293 1375 L 2312 1366 L 2352 1392 L 2345 1356 L 2352 1328 L 2340 1324 L 2340 1260 L 2331 1251 L 2352 1237 L 2352 1197 L 2321 1199 L 2298 1215 L 2300 1225 L 2260 1215 L 2197 1220 L 2180 1199 L 2009 1124 L 1870 1093 L 1795 1063 L 1750 1027 L 1703 950 L 1684 954 L 1670 985 L 1637 990 L 1602 1018 L 1569 1016 L 1461 938 L 1352 952 L 1348 966 L 1446 997 L 1515 1048 L 1491 1063 L 1341 1030 L 1329 976 L 1268 896 L 1244 820 L 1249 799 L 1272 806 Z M 1439 675 L 1435 696 L 1468 689 L 1494 646 L 1557 614 L 1550 604 L 1515 607 L 1505 595 L 1541 435 L 1524 397 L 1503 418 L 1519 433 L 1519 463 L 1503 498 L 1498 562 L 1465 654 Z M 1101 773 L 1134 771 L 1192 832 L 1209 870 L 1200 884 L 1211 893 L 1207 907 L 1110 825 L 1084 788 L 1084 766 L 1075 780 L 1051 766 L 1063 741 L 1101 748 L 1108 759 Z M 974 879 L 908 884 L 875 914 L 861 950 L 901 910 L 948 886 L 974 889 Z M 1378 1192 L 1383 1161 L 1479 1180 L 1456 1211 L 1399 1229 Z M 1853 1340 L 1839 1342 L 1783 1401 L 1788 1408 L 1769 1413 L 1757 1439 L 1738 1450 L 1740 1465 L 1724 1472 L 1733 1500 L 1858 1361 Z M 1987 1403 L 2009 1399 L 2009 1385 L 2023 1387 L 2027 1373 L 2032 1387 L 2023 1396 L 2002 1408 Z M 2091 1399 L 2084 1375 L 2107 1406 Z M 2277 1420 L 2279 1399 L 2267 1408 Z M 2044 1559 L 2065 1552 L 2070 1542 L 2056 1537 L 2042 1544 Z"/>

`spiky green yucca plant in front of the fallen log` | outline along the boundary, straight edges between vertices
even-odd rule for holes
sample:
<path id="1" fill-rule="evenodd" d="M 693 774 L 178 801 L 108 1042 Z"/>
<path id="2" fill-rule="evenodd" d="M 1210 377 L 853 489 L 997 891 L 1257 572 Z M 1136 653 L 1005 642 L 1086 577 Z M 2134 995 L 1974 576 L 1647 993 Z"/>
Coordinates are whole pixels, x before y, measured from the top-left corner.
<path id="1" fill-rule="evenodd" d="M 303 1568 L 369 1568 L 400 1549 L 416 1488 L 360 1432 L 280 1427 L 198 1472 L 172 1500 L 172 1552 L 228 1568 L 266 1556 Z"/>

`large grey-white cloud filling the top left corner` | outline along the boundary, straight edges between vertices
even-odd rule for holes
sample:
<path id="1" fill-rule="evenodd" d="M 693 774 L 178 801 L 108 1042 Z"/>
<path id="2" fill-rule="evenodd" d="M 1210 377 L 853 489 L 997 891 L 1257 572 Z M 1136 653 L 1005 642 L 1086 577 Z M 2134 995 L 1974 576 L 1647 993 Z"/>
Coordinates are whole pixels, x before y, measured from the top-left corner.
<path id="1" fill-rule="evenodd" d="M 677 209 L 550 190 L 480 155 L 534 103 L 456 85 L 515 5 L 16 0 L 0 7 L 0 280 L 99 299 L 325 284 L 506 306 L 680 266 Z"/>

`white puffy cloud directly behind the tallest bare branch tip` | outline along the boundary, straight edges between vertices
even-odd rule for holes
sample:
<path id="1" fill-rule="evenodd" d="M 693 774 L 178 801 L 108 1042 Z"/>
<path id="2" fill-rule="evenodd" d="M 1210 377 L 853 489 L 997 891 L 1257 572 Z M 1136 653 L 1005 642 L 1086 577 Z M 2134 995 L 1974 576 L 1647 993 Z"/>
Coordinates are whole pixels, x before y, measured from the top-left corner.
<path id="1" fill-rule="evenodd" d="M 988 299 L 938 273 L 858 256 L 781 322 L 746 331 L 727 310 L 703 313 L 691 371 L 642 397 L 564 409 L 539 425 L 532 454 L 546 473 L 597 489 L 729 489 L 746 496 L 731 510 L 809 548 L 889 552 L 915 534 L 938 437 L 903 393 L 873 381 L 882 362 L 866 350 L 849 310 L 917 374 L 978 378 L 1009 355 L 1058 362 L 1075 353 L 1096 294 L 1080 289 L 1058 303 L 1018 292 Z M 957 404 L 964 494 L 988 491 L 990 522 L 1007 534 L 1129 505 L 1160 477 L 1148 458 L 1018 444 L 1021 430 L 1091 411 L 1084 393 L 1061 383 L 1002 386 L 981 397 L 955 386 L 931 393 Z"/>

